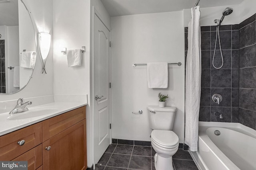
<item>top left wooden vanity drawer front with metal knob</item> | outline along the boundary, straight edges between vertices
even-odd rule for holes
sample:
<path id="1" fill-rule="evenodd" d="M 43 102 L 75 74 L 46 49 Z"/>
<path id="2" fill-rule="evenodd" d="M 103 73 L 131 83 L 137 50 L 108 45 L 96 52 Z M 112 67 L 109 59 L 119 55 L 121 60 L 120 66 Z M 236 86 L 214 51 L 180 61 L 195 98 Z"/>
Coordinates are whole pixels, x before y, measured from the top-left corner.
<path id="1" fill-rule="evenodd" d="M 12 160 L 42 143 L 42 123 L 24 127 L 0 137 L 0 160 Z M 18 141 L 24 140 L 20 146 Z"/>

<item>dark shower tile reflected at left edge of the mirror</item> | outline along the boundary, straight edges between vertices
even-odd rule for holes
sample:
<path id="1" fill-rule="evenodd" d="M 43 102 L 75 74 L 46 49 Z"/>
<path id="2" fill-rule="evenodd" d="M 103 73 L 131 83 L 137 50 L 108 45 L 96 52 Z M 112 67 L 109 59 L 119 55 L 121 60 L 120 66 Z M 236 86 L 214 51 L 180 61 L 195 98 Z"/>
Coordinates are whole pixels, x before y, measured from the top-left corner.
<path id="1" fill-rule="evenodd" d="M 0 40 L 0 93 L 5 92 L 5 40 Z"/>

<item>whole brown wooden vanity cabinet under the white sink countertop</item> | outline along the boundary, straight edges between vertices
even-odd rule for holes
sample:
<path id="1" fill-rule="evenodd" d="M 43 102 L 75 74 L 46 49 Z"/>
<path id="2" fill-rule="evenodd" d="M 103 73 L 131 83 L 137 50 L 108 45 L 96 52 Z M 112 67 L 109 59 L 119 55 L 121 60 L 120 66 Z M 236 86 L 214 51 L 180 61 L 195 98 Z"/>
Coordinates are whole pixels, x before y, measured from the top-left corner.
<path id="1" fill-rule="evenodd" d="M 55 114 L 0 136 L 0 160 L 26 160 L 29 170 L 85 170 L 86 106 Z"/>

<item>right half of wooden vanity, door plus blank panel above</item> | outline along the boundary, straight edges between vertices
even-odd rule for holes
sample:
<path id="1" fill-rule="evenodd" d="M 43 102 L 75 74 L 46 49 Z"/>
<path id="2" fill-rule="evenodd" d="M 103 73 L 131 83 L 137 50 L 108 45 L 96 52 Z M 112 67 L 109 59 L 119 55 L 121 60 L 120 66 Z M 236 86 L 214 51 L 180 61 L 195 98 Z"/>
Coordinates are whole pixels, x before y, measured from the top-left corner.
<path id="1" fill-rule="evenodd" d="M 87 168 L 85 118 L 80 107 L 43 122 L 43 170 Z"/>

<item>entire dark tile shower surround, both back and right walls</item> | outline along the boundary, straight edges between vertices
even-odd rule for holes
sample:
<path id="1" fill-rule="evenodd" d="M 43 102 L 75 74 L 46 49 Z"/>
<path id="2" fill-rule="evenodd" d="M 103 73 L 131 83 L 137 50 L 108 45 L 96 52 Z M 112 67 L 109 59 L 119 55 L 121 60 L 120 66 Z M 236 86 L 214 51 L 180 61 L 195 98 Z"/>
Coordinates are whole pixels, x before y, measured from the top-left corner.
<path id="1" fill-rule="evenodd" d="M 236 25 L 220 26 L 224 64 L 212 66 L 216 26 L 201 27 L 202 84 L 199 121 L 238 122 L 256 130 L 256 14 Z M 188 50 L 188 28 L 185 27 L 185 57 Z M 218 42 L 218 39 L 217 39 Z M 220 48 L 216 46 L 214 65 L 219 67 Z M 211 100 L 219 93 L 220 105 Z M 223 119 L 214 116 L 222 113 Z"/>

